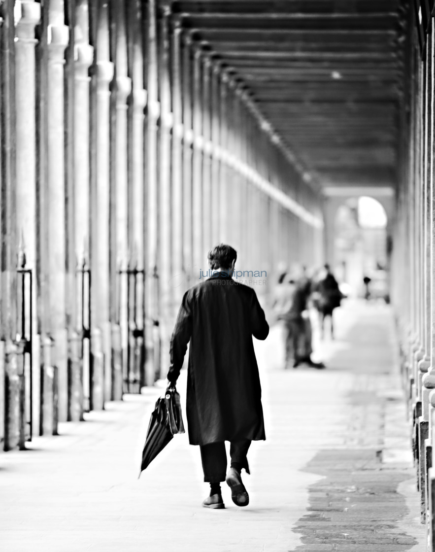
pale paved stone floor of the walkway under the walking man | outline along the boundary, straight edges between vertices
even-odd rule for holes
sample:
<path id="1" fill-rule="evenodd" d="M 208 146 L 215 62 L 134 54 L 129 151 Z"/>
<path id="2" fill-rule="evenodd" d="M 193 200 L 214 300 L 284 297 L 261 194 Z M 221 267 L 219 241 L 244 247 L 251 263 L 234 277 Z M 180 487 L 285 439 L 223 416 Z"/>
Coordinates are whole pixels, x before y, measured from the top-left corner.
<path id="1" fill-rule="evenodd" d="M 266 442 L 250 450 L 250 505 L 201 507 L 199 450 L 175 436 L 138 479 L 162 389 L 126 396 L 61 436 L 0 454 L 2 552 L 425 550 L 391 313 L 348 302 L 326 370 L 285 371 L 282 330 L 256 349 Z M 178 389 L 185 395 L 185 373 Z"/>

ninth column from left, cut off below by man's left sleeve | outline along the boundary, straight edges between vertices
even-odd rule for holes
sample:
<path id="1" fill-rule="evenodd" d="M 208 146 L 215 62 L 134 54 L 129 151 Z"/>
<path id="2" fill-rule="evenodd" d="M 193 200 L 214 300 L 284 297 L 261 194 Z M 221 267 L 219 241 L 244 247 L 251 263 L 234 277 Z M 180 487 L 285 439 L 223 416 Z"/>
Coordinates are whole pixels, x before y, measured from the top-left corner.
<path id="1" fill-rule="evenodd" d="M 172 278 L 171 288 L 173 292 L 174 309 L 173 316 L 177 315 L 177 310 L 183 293 L 187 289 L 185 282 L 185 273 L 183 273 L 183 105 L 181 88 L 181 20 L 173 20 L 172 31 L 172 113 L 173 113 L 173 131 L 172 131 Z"/>

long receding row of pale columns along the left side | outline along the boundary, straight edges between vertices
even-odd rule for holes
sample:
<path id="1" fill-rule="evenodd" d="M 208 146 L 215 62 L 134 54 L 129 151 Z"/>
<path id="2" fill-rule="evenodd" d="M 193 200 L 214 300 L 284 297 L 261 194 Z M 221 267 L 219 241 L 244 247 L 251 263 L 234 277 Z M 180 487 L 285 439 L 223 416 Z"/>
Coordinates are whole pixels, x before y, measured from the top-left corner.
<path id="1" fill-rule="evenodd" d="M 0 438 L 10 449 L 166 373 L 179 301 L 215 243 L 236 248 L 240 269 L 266 270 L 268 284 L 280 262 L 319 264 L 322 205 L 171 2 L 5 0 L 0 10 Z"/>

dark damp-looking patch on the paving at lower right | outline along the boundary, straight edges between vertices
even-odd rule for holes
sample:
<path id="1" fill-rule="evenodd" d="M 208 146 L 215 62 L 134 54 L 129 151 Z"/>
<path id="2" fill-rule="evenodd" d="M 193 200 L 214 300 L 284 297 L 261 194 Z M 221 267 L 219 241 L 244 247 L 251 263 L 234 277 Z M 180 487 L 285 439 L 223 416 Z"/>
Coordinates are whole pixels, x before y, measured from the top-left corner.
<path id="1" fill-rule="evenodd" d="M 386 470 L 367 449 L 321 450 L 304 471 L 325 477 L 309 487 L 307 513 L 293 528 L 303 544 L 289 552 L 405 552 L 418 544 L 397 525 L 408 513 L 397 487 L 410 471 Z"/>

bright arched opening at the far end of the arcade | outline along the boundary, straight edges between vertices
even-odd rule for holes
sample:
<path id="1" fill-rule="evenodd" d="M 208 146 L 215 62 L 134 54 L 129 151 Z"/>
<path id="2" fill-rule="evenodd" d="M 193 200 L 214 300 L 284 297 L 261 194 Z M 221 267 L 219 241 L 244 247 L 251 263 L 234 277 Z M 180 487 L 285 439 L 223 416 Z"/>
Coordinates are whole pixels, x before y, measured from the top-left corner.
<path id="1" fill-rule="evenodd" d="M 389 301 L 388 217 L 376 199 L 361 196 L 341 204 L 335 216 L 334 258 L 338 278 L 351 296 Z"/>

